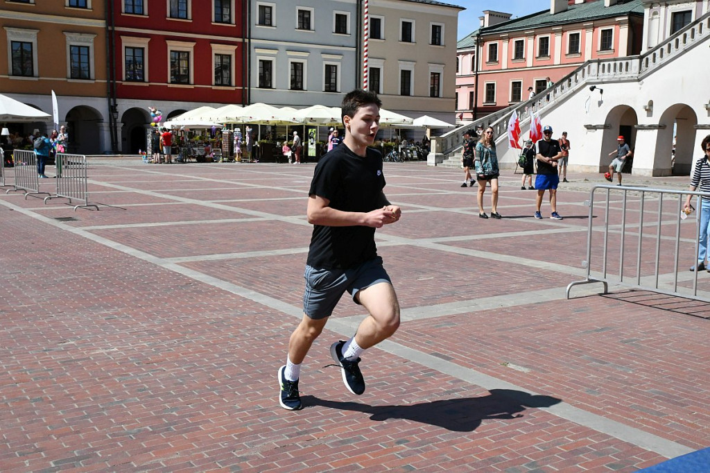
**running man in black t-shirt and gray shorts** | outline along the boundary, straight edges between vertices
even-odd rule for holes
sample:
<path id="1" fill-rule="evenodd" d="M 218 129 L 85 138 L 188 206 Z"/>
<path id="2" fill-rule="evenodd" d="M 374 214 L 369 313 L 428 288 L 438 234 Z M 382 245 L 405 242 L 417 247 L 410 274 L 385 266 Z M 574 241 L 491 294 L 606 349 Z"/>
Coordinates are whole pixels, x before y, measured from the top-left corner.
<path id="1" fill-rule="evenodd" d="M 279 403 L 289 411 L 302 408 L 302 361 L 345 291 L 369 313 L 354 337 L 330 347 L 351 393 L 365 391 L 360 355 L 400 325 L 397 295 L 375 245 L 375 229 L 397 222 L 402 214 L 383 193 L 381 153 L 368 148 L 379 129 L 381 104 L 372 92 L 347 94 L 341 106 L 345 138 L 315 168 L 308 192 L 307 217 L 314 227 L 304 274 L 304 314 L 289 339 L 286 364 L 278 370 Z"/>

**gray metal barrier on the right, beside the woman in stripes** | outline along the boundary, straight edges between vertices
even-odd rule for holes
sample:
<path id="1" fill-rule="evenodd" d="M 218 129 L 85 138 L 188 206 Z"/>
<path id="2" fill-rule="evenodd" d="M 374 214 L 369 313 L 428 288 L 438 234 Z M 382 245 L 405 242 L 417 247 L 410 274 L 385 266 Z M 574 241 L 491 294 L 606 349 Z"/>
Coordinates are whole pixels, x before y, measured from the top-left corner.
<path id="1" fill-rule="evenodd" d="M 606 195 L 601 196 L 606 200 L 602 201 L 603 210 L 599 206 L 596 209 L 604 212 L 604 219 L 595 227 L 594 199 L 597 190 L 606 190 Z M 691 214 L 694 218 L 684 219 L 682 210 L 687 195 L 698 197 L 697 212 Z M 637 196 L 638 199 L 635 198 Z M 603 294 L 606 294 L 608 283 L 613 283 L 710 302 L 710 287 L 701 294 L 698 291 L 698 273 L 705 276 L 706 272 L 688 271 L 689 267 L 697 264 L 701 196 L 710 197 L 710 193 L 616 185 L 593 187 L 589 200 L 584 202 L 589 206 L 586 259 L 582 261 L 586 279 L 569 283 L 567 298 L 573 286 L 602 283 Z M 647 210 L 646 203 L 652 201 L 657 202 L 656 208 Z M 633 237 L 636 237 L 635 244 L 627 244 L 627 239 Z M 601 243 L 598 241 L 600 238 L 603 239 Z M 615 245 L 613 248 L 618 247 L 618 253 L 610 250 L 610 239 Z M 651 249 L 648 249 L 649 245 Z M 634 256 L 635 266 L 627 264 L 630 259 L 633 261 Z M 707 278 L 710 279 L 710 274 Z M 691 279 L 692 287 L 689 287 Z"/>

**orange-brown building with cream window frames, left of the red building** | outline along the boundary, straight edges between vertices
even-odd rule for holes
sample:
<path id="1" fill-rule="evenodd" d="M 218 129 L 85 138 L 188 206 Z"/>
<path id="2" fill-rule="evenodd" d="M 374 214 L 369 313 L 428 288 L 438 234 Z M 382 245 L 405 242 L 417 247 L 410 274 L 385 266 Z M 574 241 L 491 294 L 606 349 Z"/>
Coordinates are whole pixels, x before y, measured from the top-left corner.
<path id="1" fill-rule="evenodd" d="M 70 129 L 70 149 L 99 153 L 108 126 L 104 1 L 4 1 L 0 9 L 0 93 L 52 114 Z M 30 127 L 7 124 L 25 134 Z"/>

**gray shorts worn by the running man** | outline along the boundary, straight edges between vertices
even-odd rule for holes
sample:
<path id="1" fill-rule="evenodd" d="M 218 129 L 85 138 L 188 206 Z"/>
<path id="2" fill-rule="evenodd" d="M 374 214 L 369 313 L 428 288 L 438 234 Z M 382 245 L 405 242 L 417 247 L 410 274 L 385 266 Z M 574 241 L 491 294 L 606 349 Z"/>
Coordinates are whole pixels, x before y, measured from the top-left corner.
<path id="1" fill-rule="evenodd" d="M 357 303 L 355 295 L 359 290 L 377 283 L 392 284 L 379 256 L 349 269 L 317 269 L 306 265 L 303 277 L 306 280 L 303 313 L 313 320 L 330 317 L 346 290 Z"/>

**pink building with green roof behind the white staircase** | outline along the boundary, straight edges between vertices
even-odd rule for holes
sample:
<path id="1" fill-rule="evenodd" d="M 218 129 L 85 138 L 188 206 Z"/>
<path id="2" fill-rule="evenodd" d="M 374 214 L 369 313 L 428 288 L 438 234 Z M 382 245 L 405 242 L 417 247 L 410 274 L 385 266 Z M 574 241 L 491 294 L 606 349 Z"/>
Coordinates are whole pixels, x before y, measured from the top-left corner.
<path id="1" fill-rule="evenodd" d="M 544 93 L 588 60 L 639 54 L 641 0 L 552 0 L 550 10 L 510 19 L 484 11 L 457 45 L 456 114 L 472 120 Z"/>

